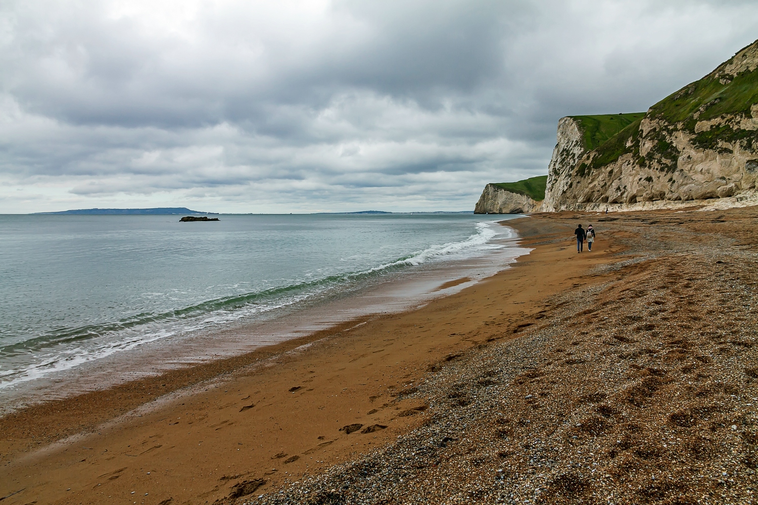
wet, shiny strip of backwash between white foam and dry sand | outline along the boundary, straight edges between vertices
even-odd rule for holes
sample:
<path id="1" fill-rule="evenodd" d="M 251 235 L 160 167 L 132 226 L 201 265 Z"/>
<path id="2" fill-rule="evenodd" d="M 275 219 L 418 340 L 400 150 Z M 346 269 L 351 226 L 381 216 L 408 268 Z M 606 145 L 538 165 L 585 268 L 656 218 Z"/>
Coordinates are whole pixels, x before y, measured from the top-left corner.
<path id="1" fill-rule="evenodd" d="M 498 226 L 495 221 L 491 224 Z M 124 382 L 161 376 L 175 369 L 240 357 L 293 338 L 308 338 L 314 332 L 341 326 L 351 320 L 412 310 L 434 298 L 465 288 L 460 284 L 471 285 L 491 276 L 497 270 L 507 268 L 518 255 L 528 254 L 515 242 L 515 238 L 506 234 L 491 242 L 502 249 L 489 254 L 422 263 L 412 271 L 390 273 L 382 278 L 369 279 L 362 287 L 353 286 L 329 298 L 306 301 L 303 307 L 287 307 L 272 319 L 240 320 L 177 338 L 161 338 L 130 351 L 82 363 L 62 373 L 32 379 L 0 391 L 0 400 L 5 404 L 0 407 L 0 416 L 49 401 L 118 387 Z M 458 282 L 463 277 L 468 281 Z"/>

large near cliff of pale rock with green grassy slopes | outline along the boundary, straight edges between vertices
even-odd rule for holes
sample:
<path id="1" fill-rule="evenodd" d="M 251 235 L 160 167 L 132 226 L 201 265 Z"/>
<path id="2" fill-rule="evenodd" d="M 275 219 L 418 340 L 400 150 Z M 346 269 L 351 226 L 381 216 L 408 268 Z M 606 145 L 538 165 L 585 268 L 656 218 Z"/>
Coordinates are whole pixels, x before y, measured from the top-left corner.
<path id="1" fill-rule="evenodd" d="M 599 117 L 562 118 L 543 210 L 756 201 L 758 41 L 640 116 L 600 145 L 585 124 Z"/>

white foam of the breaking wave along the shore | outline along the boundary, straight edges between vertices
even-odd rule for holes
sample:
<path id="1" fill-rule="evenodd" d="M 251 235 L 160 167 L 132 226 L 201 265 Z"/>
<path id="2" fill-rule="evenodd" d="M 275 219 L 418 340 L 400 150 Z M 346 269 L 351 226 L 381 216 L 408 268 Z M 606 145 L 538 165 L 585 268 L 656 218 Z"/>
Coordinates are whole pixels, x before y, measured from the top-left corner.
<path id="1" fill-rule="evenodd" d="M 189 313 L 189 316 L 156 318 L 158 320 L 152 320 L 148 316 L 145 323 L 139 323 L 136 326 L 109 330 L 99 335 L 95 332 L 96 336 L 93 338 L 54 344 L 39 349 L 33 355 L 29 355 L 30 360 L 27 360 L 26 363 L 23 363 L 23 359 L 4 363 L 2 368 L 5 369 L 0 368 L 0 390 L 11 390 L 38 379 L 59 376 L 86 363 L 104 360 L 115 354 L 128 353 L 158 341 L 175 341 L 177 338 L 183 338 L 184 335 L 204 332 L 211 328 L 223 327 L 239 321 L 255 320 L 255 318 L 267 314 L 275 315 L 287 307 L 297 307 L 298 304 L 318 299 L 330 293 L 340 293 L 346 289 L 359 288 L 364 279 L 375 279 L 376 276 L 381 276 L 387 271 L 396 272 L 408 267 L 418 267 L 425 263 L 461 260 L 487 254 L 505 247 L 500 243 L 493 243 L 494 238 L 512 238 L 515 236 L 509 228 L 494 226 L 494 221 L 481 221 L 471 224 L 475 226 L 475 232 L 464 240 L 429 245 L 407 254 L 405 257 L 385 261 L 374 267 L 352 273 L 333 273 L 329 269 L 316 268 L 301 272 L 300 279 L 292 279 L 289 287 L 277 285 L 274 282 L 272 285 L 280 291 L 293 288 L 296 292 L 281 292 L 273 295 L 273 299 L 254 299 L 241 305 L 234 304 L 232 307 L 216 308 L 210 312 L 198 310 L 197 313 Z M 364 254 L 343 257 L 340 261 L 362 260 L 364 263 L 370 263 L 370 258 L 371 251 L 366 251 Z M 212 291 L 211 288 L 221 286 L 227 291 L 233 292 L 249 285 L 251 283 L 246 281 L 228 282 L 219 283 L 219 285 L 207 289 L 210 292 Z M 188 291 L 184 288 L 169 288 L 165 291 L 140 291 L 136 295 L 147 300 L 181 300 L 183 299 L 181 297 L 187 294 Z M 255 293 L 250 295 L 255 295 Z M 8 367 L 8 365 L 11 366 Z"/>

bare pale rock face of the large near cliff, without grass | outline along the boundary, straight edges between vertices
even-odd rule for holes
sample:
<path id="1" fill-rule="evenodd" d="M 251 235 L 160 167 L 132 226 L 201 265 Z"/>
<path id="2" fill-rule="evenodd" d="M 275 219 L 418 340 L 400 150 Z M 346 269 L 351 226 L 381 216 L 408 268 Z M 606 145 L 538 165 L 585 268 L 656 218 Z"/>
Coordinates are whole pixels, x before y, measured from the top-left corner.
<path id="1" fill-rule="evenodd" d="M 753 112 L 758 110 L 753 108 Z M 724 117 L 720 124 L 711 127 L 744 125 L 746 134 L 758 140 L 754 119 L 758 117 Z M 554 154 L 548 174 L 546 210 L 602 209 L 606 204 L 612 210 L 622 210 L 653 201 L 671 202 L 667 207 L 673 208 L 681 207 L 683 202 L 750 195 L 756 190 L 758 152 L 747 148 L 744 142 L 719 142 L 715 148 L 701 148 L 692 142 L 691 133 L 647 118 L 640 130 L 639 155 L 646 158 L 644 164 L 634 154 L 623 154 L 615 162 L 581 176 L 577 167 L 590 164 L 593 153 L 580 157 L 573 167 L 567 165 L 575 151 L 569 151 L 568 155 L 561 151 Z M 675 147 L 675 159 L 656 150 L 661 142 Z M 551 185 L 553 174 L 556 182 Z"/>

